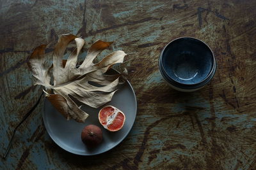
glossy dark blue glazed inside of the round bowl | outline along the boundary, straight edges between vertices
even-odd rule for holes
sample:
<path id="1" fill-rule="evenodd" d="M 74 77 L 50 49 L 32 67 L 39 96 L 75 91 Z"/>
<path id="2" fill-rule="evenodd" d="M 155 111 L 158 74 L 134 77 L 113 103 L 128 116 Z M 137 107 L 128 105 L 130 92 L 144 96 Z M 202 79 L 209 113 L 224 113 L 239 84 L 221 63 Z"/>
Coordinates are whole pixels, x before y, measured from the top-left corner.
<path id="1" fill-rule="evenodd" d="M 174 81 L 193 85 L 205 80 L 214 63 L 211 49 L 195 38 L 179 38 L 163 52 L 163 69 Z"/>

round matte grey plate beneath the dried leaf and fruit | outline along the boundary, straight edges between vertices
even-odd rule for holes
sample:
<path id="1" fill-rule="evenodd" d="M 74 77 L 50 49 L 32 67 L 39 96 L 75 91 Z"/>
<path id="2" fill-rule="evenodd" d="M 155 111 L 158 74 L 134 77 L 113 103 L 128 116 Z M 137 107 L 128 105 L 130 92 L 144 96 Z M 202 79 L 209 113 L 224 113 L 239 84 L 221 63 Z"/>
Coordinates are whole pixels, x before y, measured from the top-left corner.
<path id="1" fill-rule="evenodd" d="M 66 120 L 47 99 L 45 99 L 43 114 L 45 128 L 52 140 L 68 152 L 77 155 L 97 155 L 106 152 L 118 145 L 131 131 L 134 124 L 137 103 L 131 84 L 128 81 L 124 83 L 115 93 L 112 101 L 106 105 L 115 106 L 125 113 L 125 124 L 120 131 L 109 132 L 100 125 L 98 113 L 102 107 L 94 109 L 89 106 L 83 106 L 82 110 L 86 111 L 90 116 L 84 123 L 78 123 L 74 120 Z M 89 124 L 99 126 L 103 133 L 102 143 L 93 149 L 87 148 L 81 140 L 82 129 Z"/>

